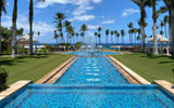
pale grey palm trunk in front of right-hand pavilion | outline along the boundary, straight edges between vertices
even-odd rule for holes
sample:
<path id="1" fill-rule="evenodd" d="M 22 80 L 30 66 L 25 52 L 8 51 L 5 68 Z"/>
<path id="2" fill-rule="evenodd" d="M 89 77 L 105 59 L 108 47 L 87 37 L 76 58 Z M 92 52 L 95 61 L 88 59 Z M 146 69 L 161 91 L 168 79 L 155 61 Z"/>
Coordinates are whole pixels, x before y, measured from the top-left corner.
<path id="1" fill-rule="evenodd" d="M 153 22 L 153 54 L 158 54 L 157 19 Z"/>

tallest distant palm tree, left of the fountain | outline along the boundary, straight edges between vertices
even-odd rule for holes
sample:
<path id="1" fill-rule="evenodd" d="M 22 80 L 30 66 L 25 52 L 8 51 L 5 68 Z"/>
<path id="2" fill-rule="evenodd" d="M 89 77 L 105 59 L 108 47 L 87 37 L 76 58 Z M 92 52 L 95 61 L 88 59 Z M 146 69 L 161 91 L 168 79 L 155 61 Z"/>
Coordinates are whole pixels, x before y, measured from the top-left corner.
<path id="1" fill-rule="evenodd" d="M 57 24 L 57 29 L 59 31 L 59 36 L 61 37 L 62 43 L 64 42 L 63 31 L 62 31 L 62 29 L 63 29 L 62 21 L 64 18 L 65 18 L 65 16 L 63 13 L 61 13 L 61 12 L 55 13 L 55 17 L 54 17 L 55 22 L 54 23 Z"/>

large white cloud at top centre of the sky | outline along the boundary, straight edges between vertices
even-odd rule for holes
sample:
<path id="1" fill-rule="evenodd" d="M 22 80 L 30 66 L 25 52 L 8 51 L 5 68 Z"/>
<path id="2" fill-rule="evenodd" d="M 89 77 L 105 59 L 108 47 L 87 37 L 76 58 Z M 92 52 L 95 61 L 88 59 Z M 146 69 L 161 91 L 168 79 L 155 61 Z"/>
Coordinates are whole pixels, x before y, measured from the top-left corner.
<path id="1" fill-rule="evenodd" d="M 75 5 L 75 9 L 72 12 L 73 17 L 71 21 L 90 21 L 94 19 L 94 15 L 87 15 L 86 12 L 94 10 L 94 6 L 90 3 L 100 3 L 102 0 L 47 0 L 46 2 L 39 2 L 37 8 L 47 8 L 55 3 L 59 4 L 72 4 Z"/>

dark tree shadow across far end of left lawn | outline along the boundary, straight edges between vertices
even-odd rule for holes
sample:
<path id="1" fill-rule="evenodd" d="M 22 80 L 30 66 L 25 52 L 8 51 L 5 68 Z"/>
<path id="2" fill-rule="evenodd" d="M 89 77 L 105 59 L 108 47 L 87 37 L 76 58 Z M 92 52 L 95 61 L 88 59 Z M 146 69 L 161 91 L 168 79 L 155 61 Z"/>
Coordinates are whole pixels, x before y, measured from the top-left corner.
<path id="1" fill-rule="evenodd" d="M 23 59 L 25 59 L 25 58 L 49 58 L 49 56 L 48 55 L 32 55 L 32 56 L 17 56 L 17 57 L 15 57 L 15 58 L 2 58 L 2 59 L 0 59 L 0 66 L 1 65 L 10 65 L 10 66 L 12 66 L 12 65 L 16 65 L 16 63 L 26 63 L 25 60 L 23 60 Z"/>

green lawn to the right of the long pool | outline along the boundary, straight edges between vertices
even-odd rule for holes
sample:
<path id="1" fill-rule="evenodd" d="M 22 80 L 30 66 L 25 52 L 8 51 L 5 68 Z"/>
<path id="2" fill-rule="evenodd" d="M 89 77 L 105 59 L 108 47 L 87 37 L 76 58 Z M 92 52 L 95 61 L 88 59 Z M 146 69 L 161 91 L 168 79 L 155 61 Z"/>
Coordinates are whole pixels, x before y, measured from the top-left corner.
<path id="1" fill-rule="evenodd" d="M 174 83 L 174 59 L 169 56 L 134 53 L 113 57 L 151 82 L 166 80 Z"/>

